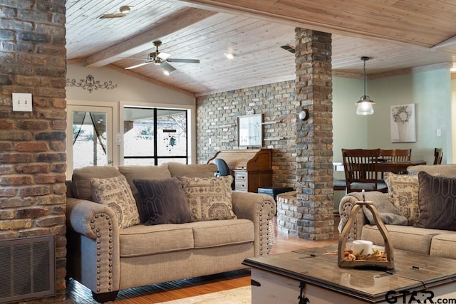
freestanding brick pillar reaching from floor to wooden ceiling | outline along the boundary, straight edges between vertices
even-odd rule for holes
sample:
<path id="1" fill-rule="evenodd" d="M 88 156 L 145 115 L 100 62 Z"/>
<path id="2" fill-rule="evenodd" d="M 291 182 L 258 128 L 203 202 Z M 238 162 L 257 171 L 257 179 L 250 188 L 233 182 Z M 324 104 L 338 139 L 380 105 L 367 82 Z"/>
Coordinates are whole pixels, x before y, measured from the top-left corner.
<path id="1" fill-rule="evenodd" d="M 333 237 L 331 34 L 296 28 L 296 221 L 298 236 Z M 296 115 L 297 116 L 297 115 Z"/>

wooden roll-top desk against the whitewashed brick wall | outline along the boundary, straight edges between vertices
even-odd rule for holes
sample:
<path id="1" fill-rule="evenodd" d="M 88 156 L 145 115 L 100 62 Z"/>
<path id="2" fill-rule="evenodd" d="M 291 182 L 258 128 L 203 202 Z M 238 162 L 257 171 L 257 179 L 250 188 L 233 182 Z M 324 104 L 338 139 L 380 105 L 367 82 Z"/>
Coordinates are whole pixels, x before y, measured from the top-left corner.
<path id="1" fill-rule="evenodd" d="M 223 159 L 234 176 L 234 190 L 258 192 L 272 186 L 271 149 L 221 150 L 207 161 Z"/>

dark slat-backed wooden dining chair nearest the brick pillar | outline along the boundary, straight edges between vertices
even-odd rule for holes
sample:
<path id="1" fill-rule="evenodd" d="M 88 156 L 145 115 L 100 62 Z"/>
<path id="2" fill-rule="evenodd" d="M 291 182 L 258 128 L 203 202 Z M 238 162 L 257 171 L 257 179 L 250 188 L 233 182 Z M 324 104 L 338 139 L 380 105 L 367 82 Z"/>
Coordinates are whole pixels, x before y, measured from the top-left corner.
<path id="1" fill-rule="evenodd" d="M 380 149 L 342 149 L 346 192 L 388 192 L 385 182 L 378 180 Z"/>

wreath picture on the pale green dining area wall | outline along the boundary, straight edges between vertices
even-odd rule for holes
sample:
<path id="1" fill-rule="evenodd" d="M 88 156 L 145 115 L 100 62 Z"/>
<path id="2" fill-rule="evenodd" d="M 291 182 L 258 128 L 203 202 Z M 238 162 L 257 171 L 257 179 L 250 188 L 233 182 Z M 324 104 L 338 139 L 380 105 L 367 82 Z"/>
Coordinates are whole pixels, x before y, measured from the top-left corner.
<path id="1" fill-rule="evenodd" d="M 391 142 L 416 142 L 415 107 L 415 103 L 391 106 Z"/>

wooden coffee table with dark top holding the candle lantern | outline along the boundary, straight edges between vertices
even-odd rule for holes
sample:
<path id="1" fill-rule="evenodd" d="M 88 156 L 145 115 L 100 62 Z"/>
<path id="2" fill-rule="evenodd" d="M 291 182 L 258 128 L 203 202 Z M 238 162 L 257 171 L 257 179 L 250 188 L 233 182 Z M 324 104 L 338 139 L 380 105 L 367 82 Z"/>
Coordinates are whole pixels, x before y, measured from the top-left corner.
<path id="1" fill-rule="evenodd" d="M 395 268 L 390 271 L 339 268 L 336 255 L 324 254 L 336 249 L 328 246 L 247 258 L 243 264 L 252 268 L 252 303 L 424 303 L 426 298 L 437 303 L 437 298 L 456 299 L 456 260 L 395 250 Z"/>

